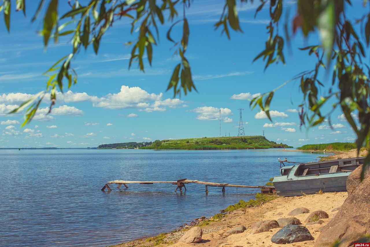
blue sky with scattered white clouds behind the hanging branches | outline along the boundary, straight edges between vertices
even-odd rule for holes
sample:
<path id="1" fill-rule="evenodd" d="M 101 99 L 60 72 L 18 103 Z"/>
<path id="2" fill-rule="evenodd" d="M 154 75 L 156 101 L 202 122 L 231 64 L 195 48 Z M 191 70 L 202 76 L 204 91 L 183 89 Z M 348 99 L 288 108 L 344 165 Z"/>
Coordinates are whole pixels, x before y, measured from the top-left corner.
<path id="1" fill-rule="evenodd" d="M 250 109 L 253 97 L 313 69 L 314 57 L 297 48 L 317 44 L 319 40 L 315 34 L 304 39 L 298 31 L 292 37 L 291 49 L 285 47 L 286 65 L 272 64 L 264 71 L 265 62 L 253 59 L 267 40 L 269 10 L 265 8 L 254 19 L 258 1 L 254 5 L 238 3 L 243 32 L 231 31 L 231 40 L 213 26 L 221 16 L 223 1 L 194 1 L 186 10 L 190 37 L 185 55 L 198 92 L 174 99 L 173 91 L 166 91 L 172 71 L 180 61 L 174 55 L 175 49 L 171 49 L 173 44 L 166 39 L 169 23 L 159 27 L 159 44 L 153 47 L 152 66 L 145 62 L 145 73 L 139 71 L 137 63 L 128 69 L 131 47 L 124 43 L 134 40 L 137 33 L 131 35 L 129 21 L 122 20 L 107 31 L 98 55 L 90 47 L 81 50 L 72 61 L 78 83 L 65 88 L 63 94 L 57 93 L 51 113 L 47 114 L 50 99 L 45 97 L 34 119 L 21 127 L 24 111 L 7 113 L 45 90 L 47 77 L 43 73 L 72 49 L 70 37 L 57 44 L 50 42 L 44 49 L 43 38 L 37 33 L 41 19 L 30 22 L 36 6 L 26 3 L 26 18 L 14 11 L 13 4 L 10 34 L 0 18 L 0 147 L 97 147 L 106 143 L 218 137 L 219 110 L 221 136 L 238 136 L 238 109 L 244 109 L 242 123 L 246 136 L 262 135 L 265 131 L 269 140 L 293 147 L 353 142 L 356 138 L 340 109 L 331 115 L 332 127 L 327 121 L 309 129 L 300 127 L 297 106 L 303 95 L 297 81 L 276 91 L 270 106 L 272 121 L 257 107 Z M 361 1 L 355 3 L 350 10 L 353 15 L 361 10 Z M 58 11 L 67 10 L 67 1 L 60 1 Z M 291 12 L 294 11 L 292 8 Z M 280 30 L 283 24 L 282 21 Z M 180 40 L 181 30 L 182 25 L 176 25 L 172 39 Z M 330 76 L 323 73 L 320 80 L 324 90 L 328 90 Z M 330 107 L 329 104 L 326 111 Z"/>

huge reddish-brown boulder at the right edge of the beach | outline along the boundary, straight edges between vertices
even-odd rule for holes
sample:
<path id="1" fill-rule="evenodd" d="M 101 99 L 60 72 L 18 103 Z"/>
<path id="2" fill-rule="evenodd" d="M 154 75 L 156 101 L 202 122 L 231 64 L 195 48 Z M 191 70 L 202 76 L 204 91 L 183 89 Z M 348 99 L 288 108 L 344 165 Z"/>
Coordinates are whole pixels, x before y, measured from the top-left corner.
<path id="1" fill-rule="evenodd" d="M 344 240 L 344 236 L 354 236 L 354 238 L 357 238 L 359 234 L 370 234 L 370 229 L 367 226 L 370 220 L 365 220 L 366 223 L 361 223 L 361 217 L 365 218 L 367 214 L 370 214 L 369 187 L 370 177 L 363 180 L 359 186 L 349 194 L 338 213 L 326 224 L 319 237 L 317 237 L 315 246 L 325 246 L 327 243 L 333 243 L 338 238 Z M 364 224 L 364 226 L 350 227 L 351 225 L 349 223 L 357 225 L 356 222 L 358 222 L 359 226 L 362 224 Z M 353 244 L 348 244 L 350 242 L 351 241 L 344 240 L 344 243 L 340 246 L 353 246 Z"/>

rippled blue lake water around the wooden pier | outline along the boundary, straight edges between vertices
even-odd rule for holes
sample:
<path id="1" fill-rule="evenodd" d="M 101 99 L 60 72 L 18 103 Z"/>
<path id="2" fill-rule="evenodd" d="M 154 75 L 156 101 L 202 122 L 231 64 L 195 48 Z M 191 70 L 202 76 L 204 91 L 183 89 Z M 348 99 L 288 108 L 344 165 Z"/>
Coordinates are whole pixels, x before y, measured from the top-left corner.
<path id="1" fill-rule="evenodd" d="M 258 189 L 129 184 L 107 181 L 182 178 L 265 185 L 277 158 L 318 154 L 280 150 L 0 150 L 0 246 L 110 246 L 172 231 L 217 214 Z M 320 154 L 321 155 L 321 154 Z"/>

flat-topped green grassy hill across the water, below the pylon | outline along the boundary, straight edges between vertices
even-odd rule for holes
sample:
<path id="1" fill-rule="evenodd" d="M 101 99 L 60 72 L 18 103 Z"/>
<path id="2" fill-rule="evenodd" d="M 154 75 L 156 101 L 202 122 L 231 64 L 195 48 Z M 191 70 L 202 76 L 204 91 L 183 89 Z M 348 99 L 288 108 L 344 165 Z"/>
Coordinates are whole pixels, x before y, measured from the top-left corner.
<path id="1" fill-rule="evenodd" d="M 186 149 L 186 150 L 219 150 L 219 149 L 247 149 L 247 148 L 289 148 L 283 143 L 269 141 L 264 136 L 239 137 L 202 137 L 176 140 L 155 140 L 151 146 L 141 149 Z"/>

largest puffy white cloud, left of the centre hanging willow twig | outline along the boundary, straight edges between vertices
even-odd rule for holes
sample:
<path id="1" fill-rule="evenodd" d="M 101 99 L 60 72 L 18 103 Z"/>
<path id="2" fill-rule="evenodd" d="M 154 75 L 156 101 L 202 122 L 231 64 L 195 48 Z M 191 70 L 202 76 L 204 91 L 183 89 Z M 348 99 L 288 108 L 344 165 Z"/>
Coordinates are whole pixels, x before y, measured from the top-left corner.
<path id="1" fill-rule="evenodd" d="M 145 108 L 149 107 L 148 101 L 161 100 L 163 94 L 149 94 L 140 87 L 121 86 L 119 93 L 108 94 L 98 99 L 92 105 L 108 109 Z"/>

